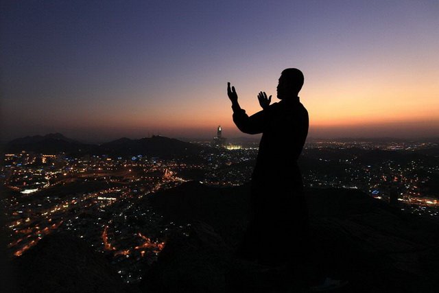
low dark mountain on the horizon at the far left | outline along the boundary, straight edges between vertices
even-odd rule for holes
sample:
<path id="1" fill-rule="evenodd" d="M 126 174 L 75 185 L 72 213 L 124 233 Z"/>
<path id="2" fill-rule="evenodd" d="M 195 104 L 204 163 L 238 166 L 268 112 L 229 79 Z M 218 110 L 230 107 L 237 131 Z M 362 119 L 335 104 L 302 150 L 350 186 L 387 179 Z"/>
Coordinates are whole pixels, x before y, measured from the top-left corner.
<path id="1" fill-rule="evenodd" d="M 95 145 L 69 139 L 60 133 L 23 137 L 14 139 L 5 145 L 5 152 L 21 152 L 25 150 L 40 154 L 57 154 L 59 152 L 86 153 L 94 149 Z"/>

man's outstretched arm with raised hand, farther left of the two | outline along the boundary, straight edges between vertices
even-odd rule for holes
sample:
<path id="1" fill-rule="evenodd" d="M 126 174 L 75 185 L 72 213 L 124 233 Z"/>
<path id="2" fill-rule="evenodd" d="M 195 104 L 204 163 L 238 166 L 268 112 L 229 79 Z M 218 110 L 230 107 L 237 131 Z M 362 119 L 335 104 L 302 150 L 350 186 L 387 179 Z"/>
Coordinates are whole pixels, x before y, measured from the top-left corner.
<path id="1" fill-rule="evenodd" d="M 241 109 L 241 106 L 239 106 L 235 86 L 232 86 L 232 89 L 230 89 L 230 82 L 227 83 L 227 95 L 232 102 L 233 122 L 235 122 L 237 128 L 248 134 L 263 132 L 267 112 L 262 110 L 248 117 L 246 110 Z"/>

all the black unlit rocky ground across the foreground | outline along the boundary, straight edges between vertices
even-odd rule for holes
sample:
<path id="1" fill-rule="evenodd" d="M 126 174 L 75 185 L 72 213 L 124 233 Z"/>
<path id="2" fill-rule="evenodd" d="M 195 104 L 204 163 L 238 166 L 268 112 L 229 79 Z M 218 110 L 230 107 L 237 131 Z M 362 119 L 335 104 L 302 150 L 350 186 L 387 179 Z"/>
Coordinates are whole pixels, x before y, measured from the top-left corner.
<path id="1" fill-rule="evenodd" d="M 338 292 L 438 292 L 438 219 L 348 189 L 310 189 L 314 276 L 348 281 Z M 246 226 L 248 187 L 189 182 L 147 198 L 189 236 L 170 233 L 143 281 L 119 281 L 104 255 L 82 239 L 49 235 L 10 270 L 19 292 L 299 292 L 282 268 L 233 259 Z M 146 204 L 146 203 L 145 203 Z M 273 241 L 283 241 L 282 235 Z"/>

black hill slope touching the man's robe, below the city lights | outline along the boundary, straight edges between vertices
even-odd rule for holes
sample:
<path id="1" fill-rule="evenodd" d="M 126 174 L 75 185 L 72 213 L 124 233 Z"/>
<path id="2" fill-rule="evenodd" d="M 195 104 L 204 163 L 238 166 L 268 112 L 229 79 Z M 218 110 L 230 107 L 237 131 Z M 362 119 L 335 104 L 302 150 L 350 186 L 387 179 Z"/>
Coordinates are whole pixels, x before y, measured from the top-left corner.
<path id="1" fill-rule="evenodd" d="M 248 186 L 215 188 L 189 181 L 173 189 L 159 191 L 148 201 L 165 218 L 187 224 L 206 222 L 215 228 L 228 246 L 235 247 L 246 228 L 250 194 Z"/>

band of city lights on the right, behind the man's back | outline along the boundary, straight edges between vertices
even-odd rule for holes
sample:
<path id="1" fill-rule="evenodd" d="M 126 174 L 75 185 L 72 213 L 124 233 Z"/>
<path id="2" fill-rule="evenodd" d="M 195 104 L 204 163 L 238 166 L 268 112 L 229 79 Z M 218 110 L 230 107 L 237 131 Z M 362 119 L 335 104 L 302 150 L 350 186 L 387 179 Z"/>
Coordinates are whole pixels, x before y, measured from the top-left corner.
<path id="1" fill-rule="evenodd" d="M 308 150 L 398 150 L 416 151 L 431 148 L 436 145 L 429 143 L 379 143 L 372 148 L 373 143 L 310 143 Z M 401 148 L 401 149 L 400 149 Z M 346 153 L 346 152 L 344 152 Z M 305 150 L 307 156 L 307 150 Z M 410 156 L 410 152 L 399 156 Z M 385 200 L 395 206 L 401 206 L 404 211 L 420 215 L 438 215 L 439 189 L 432 188 L 431 182 L 439 178 L 439 164 L 429 163 L 427 157 L 415 159 L 385 158 L 379 163 L 365 163 L 357 156 L 350 159 L 320 158 L 319 164 L 313 165 L 304 172 L 304 181 L 310 187 L 341 187 L 360 189 L 374 198 Z M 332 172 L 328 168 L 332 167 Z"/>

